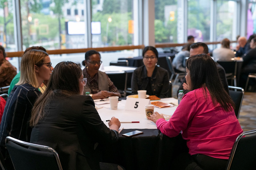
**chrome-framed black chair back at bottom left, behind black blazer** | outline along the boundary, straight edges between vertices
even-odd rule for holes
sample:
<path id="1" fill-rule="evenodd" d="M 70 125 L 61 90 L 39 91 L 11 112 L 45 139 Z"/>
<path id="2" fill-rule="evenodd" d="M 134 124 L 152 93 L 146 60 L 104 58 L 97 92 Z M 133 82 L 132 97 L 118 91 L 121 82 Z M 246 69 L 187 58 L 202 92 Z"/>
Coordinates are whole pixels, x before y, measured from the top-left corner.
<path id="1" fill-rule="evenodd" d="M 62 170 L 59 155 L 51 147 L 23 142 L 9 136 L 5 138 L 5 144 L 15 169 Z"/>

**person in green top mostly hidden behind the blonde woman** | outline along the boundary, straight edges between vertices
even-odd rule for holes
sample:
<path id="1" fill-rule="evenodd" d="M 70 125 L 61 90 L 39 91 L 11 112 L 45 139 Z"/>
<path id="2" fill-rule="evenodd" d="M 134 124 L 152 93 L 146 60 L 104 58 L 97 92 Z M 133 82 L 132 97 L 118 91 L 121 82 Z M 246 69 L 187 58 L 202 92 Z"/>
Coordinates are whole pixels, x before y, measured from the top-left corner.
<path id="1" fill-rule="evenodd" d="M 41 50 L 41 51 L 46 52 L 46 49 L 43 48 L 43 47 L 41 47 L 41 46 L 33 46 L 33 47 L 27 48 L 27 49 L 24 51 L 23 55 L 24 55 L 26 52 L 28 52 L 29 50 L 31 50 L 31 49 L 37 49 L 37 50 Z M 21 71 L 19 71 L 18 74 L 12 79 L 12 82 L 11 82 L 10 87 L 9 87 L 9 89 L 8 89 L 8 94 L 11 93 L 11 91 L 12 91 L 14 85 L 16 85 L 16 84 L 19 82 L 20 77 L 21 77 Z M 43 93 L 44 90 L 45 90 L 45 88 L 46 88 L 45 84 L 42 83 L 42 85 L 40 85 L 40 87 L 39 87 L 38 89 L 39 89 L 40 92 Z"/>

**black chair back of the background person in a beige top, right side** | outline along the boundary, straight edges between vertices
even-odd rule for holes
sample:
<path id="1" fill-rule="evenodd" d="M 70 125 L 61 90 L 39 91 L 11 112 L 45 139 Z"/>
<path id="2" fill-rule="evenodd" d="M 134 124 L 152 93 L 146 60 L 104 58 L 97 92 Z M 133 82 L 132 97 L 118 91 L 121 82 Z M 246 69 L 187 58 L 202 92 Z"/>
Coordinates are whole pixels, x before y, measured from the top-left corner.
<path id="1" fill-rule="evenodd" d="M 224 70 L 226 72 L 226 78 L 231 79 L 230 85 L 233 85 L 233 81 L 234 81 L 234 86 L 236 86 L 236 71 L 237 71 L 236 60 L 234 58 L 232 58 L 230 60 L 218 59 L 217 63 L 219 63 L 224 68 Z"/>

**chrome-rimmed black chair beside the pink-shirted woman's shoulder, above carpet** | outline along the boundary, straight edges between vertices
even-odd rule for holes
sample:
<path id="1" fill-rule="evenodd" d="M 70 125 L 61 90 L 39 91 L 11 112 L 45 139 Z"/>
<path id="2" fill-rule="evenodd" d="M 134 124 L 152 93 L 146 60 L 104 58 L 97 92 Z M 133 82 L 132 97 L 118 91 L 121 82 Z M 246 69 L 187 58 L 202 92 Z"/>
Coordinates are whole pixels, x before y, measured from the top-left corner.
<path id="1" fill-rule="evenodd" d="M 242 102 L 244 99 L 244 89 L 242 87 L 228 86 L 229 95 L 235 103 L 235 116 L 238 119 Z"/>

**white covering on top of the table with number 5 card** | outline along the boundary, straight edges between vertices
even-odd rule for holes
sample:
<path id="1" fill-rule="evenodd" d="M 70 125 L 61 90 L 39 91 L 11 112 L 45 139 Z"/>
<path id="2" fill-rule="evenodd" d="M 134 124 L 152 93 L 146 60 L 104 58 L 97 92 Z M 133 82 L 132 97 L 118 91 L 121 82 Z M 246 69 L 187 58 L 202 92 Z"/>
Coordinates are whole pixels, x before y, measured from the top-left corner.
<path id="1" fill-rule="evenodd" d="M 147 120 L 145 112 L 143 113 L 134 113 L 127 112 L 124 110 L 126 100 L 121 100 L 118 102 L 118 109 L 111 110 L 109 100 L 98 102 L 99 100 L 95 100 L 95 106 L 98 107 L 98 113 L 102 119 L 102 121 L 108 126 L 108 122 L 106 120 L 110 120 L 112 116 L 115 116 L 119 119 L 120 122 L 131 122 L 131 121 L 139 121 L 139 123 L 121 123 L 120 128 L 124 129 L 156 129 L 156 125 L 154 122 Z M 152 100 L 159 101 L 159 100 Z M 174 103 L 178 105 L 178 100 L 175 98 L 165 98 L 161 99 L 161 102 L 165 103 Z M 102 105 L 97 105 L 102 104 Z M 106 103 L 106 104 L 103 104 Z M 176 110 L 177 106 L 174 107 L 162 107 L 162 108 L 154 108 L 154 112 L 158 112 L 160 114 L 172 115 Z"/>

